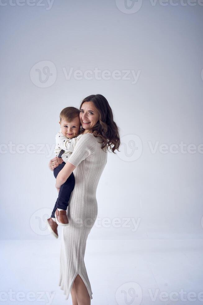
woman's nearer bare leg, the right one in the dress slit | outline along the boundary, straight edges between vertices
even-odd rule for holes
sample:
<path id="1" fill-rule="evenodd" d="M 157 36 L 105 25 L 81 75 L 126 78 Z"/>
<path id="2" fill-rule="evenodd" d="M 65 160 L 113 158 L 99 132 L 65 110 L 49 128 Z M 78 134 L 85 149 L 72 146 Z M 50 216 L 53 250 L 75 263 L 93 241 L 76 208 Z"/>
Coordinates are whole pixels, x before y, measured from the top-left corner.
<path id="1" fill-rule="evenodd" d="M 74 284 L 78 305 L 90 305 L 91 299 L 87 287 L 85 286 L 85 283 L 83 282 L 79 274 L 76 276 Z"/>

